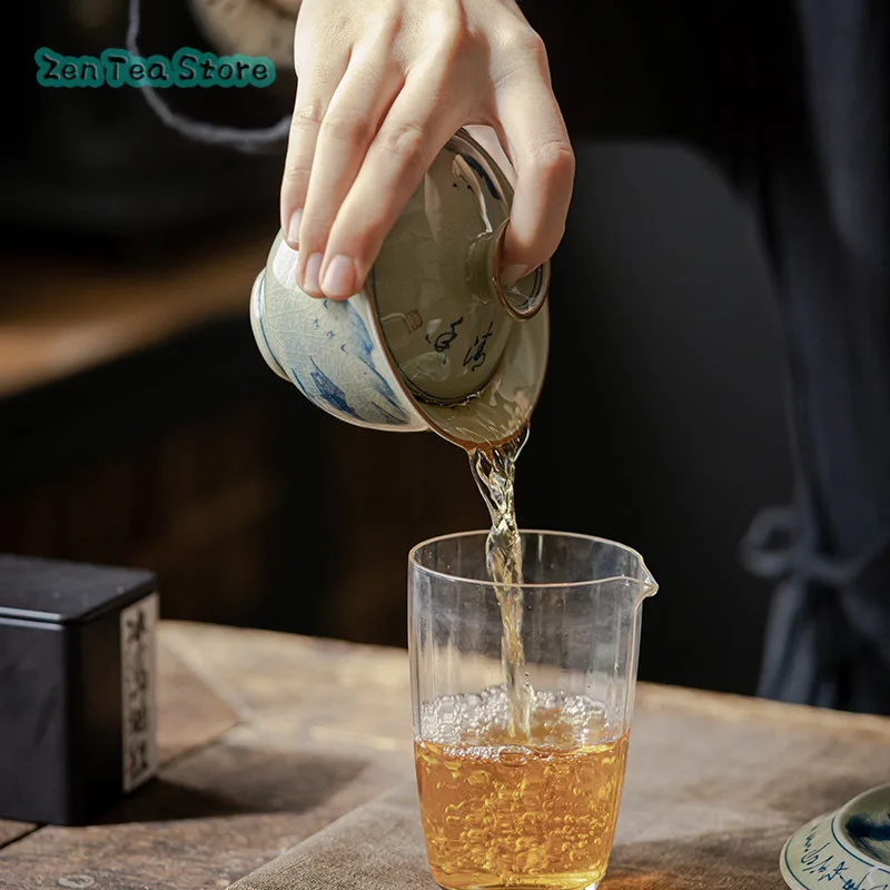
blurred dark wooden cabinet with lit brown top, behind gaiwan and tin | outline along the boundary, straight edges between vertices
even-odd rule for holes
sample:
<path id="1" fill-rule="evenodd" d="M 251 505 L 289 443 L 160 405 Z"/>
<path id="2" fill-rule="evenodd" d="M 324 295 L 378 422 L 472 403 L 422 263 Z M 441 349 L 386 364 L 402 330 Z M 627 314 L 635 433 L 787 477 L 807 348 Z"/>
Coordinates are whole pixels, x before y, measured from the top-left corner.
<path id="1" fill-rule="evenodd" d="M 403 644 L 408 547 L 484 526 L 482 501 L 457 448 L 347 426 L 267 368 L 267 249 L 3 264 L 0 552 L 148 567 L 167 617 Z"/>

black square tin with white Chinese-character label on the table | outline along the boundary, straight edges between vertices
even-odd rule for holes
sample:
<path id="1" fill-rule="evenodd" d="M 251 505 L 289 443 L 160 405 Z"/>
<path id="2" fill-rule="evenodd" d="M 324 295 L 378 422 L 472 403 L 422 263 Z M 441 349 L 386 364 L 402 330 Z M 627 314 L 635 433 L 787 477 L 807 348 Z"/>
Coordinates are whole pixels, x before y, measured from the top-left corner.
<path id="1" fill-rule="evenodd" d="M 0 818 L 82 825 L 157 771 L 158 585 L 0 555 Z"/>

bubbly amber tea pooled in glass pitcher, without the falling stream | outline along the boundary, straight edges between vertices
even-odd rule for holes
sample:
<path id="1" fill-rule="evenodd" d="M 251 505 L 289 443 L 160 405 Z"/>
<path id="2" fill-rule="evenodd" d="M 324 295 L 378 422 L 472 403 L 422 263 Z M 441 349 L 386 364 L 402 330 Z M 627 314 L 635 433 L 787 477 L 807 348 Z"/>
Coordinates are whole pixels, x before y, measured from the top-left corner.
<path id="1" fill-rule="evenodd" d="M 607 738 L 602 708 L 587 700 L 548 704 L 538 693 L 530 735 L 516 744 L 505 688 L 449 698 L 429 703 L 415 742 L 433 878 L 454 890 L 595 886 L 615 833 L 626 733 Z M 438 721 L 437 709 L 451 722 Z M 484 711 L 500 712 L 503 728 Z"/>

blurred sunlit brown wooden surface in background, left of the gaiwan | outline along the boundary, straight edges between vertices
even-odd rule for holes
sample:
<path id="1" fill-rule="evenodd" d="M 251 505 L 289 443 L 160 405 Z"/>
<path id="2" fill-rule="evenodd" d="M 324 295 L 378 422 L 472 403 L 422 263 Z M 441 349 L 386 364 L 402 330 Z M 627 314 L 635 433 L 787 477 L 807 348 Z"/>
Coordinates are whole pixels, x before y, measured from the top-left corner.
<path id="1" fill-rule="evenodd" d="M 66 379 L 211 322 L 247 314 L 270 236 L 151 268 L 3 257 L 0 398 Z"/>

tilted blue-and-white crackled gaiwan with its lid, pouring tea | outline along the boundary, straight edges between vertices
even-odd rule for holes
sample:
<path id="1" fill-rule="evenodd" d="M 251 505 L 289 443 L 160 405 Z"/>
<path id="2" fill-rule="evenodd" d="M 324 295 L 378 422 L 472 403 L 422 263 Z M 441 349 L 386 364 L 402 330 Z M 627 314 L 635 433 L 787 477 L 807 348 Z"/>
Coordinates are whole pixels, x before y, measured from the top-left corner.
<path id="1" fill-rule="evenodd" d="M 250 298 L 269 367 L 358 426 L 433 429 L 464 447 L 515 436 L 543 386 L 550 264 L 501 284 L 512 199 L 504 172 L 459 131 L 348 300 L 303 293 L 298 254 L 279 231 Z"/>

